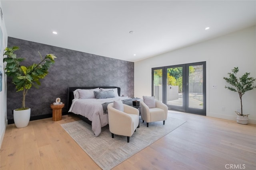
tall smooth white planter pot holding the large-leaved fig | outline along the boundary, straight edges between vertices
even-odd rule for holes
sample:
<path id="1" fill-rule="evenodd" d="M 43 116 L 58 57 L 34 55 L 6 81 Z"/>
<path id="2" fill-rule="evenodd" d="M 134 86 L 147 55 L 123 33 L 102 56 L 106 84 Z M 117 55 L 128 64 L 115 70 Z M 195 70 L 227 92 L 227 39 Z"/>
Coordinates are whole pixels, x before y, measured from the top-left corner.
<path id="1" fill-rule="evenodd" d="M 13 111 L 14 124 L 17 128 L 26 127 L 30 119 L 30 108 Z"/>

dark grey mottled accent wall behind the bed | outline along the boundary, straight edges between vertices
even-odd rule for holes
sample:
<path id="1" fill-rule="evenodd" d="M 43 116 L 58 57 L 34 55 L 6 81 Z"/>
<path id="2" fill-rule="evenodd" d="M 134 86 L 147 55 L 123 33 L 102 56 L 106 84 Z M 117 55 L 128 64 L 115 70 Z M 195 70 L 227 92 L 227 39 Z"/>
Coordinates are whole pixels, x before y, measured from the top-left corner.
<path id="1" fill-rule="evenodd" d="M 121 96 L 134 96 L 134 63 L 73 51 L 51 45 L 8 37 L 8 47 L 18 46 L 17 57 L 26 58 L 21 64 L 28 66 L 40 61 L 40 54 L 55 54 L 55 64 L 42 79 L 39 89 L 32 87 L 26 95 L 26 107 L 31 117 L 52 113 L 50 104 L 60 97 L 65 104 L 67 89 L 72 86 L 118 86 Z M 13 119 L 12 110 L 22 106 L 22 92 L 16 92 L 7 78 L 7 119 Z M 67 111 L 67 107 L 62 111 Z"/>

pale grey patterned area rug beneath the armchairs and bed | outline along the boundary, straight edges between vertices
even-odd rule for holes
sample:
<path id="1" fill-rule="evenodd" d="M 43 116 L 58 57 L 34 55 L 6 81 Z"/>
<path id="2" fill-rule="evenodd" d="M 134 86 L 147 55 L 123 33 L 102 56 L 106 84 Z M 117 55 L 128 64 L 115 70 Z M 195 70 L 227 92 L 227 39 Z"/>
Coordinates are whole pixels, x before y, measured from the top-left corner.
<path id="1" fill-rule="evenodd" d="M 185 122 L 168 117 L 165 125 L 163 121 L 158 121 L 149 123 L 147 127 L 140 119 L 140 127 L 130 137 L 130 143 L 124 136 L 114 135 L 112 138 L 108 125 L 102 127 L 98 137 L 95 137 L 92 127 L 82 120 L 62 124 L 62 127 L 100 168 L 110 170 Z"/>

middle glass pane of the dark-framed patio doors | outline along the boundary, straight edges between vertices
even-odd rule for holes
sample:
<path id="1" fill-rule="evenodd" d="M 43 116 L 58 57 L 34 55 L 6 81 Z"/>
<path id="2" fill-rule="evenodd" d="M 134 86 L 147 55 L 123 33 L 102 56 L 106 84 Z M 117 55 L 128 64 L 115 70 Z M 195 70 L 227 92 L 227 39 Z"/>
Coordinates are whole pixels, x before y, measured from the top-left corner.
<path id="1" fill-rule="evenodd" d="M 167 104 L 182 106 L 182 67 L 167 68 Z"/>

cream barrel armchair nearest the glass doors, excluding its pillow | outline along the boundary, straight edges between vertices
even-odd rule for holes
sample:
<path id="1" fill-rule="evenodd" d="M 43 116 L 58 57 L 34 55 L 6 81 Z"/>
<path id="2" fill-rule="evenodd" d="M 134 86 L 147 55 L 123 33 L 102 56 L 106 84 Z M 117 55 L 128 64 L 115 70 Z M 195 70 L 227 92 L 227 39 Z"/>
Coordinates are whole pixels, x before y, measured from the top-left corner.
<path id="1" fill-rule="evenodd" d="M 168 107 L 162 102 L 155 100 L 156 107 L 149 108 L 144 100 L 140 100 L 140 114 L 142 118 L 142 122 L 146 121 L 147 127 L 148 123 L 153 121 L 163 121 L 165 123 L 167 119 Z"/>

